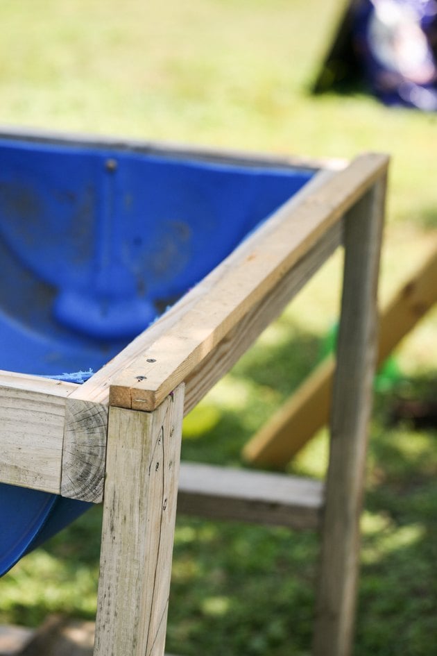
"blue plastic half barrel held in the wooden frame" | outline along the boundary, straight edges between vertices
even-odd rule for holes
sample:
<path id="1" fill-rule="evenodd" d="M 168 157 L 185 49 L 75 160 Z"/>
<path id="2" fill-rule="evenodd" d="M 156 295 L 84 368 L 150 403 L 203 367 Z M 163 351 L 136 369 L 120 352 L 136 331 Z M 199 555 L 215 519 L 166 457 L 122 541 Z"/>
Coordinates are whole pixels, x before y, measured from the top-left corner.
<path id="1" fill-rule="evenodd" d="M 0 369 L 96 371 L 313 174 L 0 139 Z M 0 485 L 0 575 L 87 507 Z"/>

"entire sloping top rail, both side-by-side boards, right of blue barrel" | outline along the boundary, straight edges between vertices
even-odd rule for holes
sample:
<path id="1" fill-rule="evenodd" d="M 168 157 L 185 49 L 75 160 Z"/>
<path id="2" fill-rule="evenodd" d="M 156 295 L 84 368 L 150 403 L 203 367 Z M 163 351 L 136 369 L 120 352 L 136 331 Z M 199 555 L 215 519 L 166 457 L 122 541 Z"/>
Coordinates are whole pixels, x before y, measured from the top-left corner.
<path id="1" fill-rule="evenodd" d="M 322 171 L 71 398 L 151 411 L 384 175 L 384 155 Z"/>

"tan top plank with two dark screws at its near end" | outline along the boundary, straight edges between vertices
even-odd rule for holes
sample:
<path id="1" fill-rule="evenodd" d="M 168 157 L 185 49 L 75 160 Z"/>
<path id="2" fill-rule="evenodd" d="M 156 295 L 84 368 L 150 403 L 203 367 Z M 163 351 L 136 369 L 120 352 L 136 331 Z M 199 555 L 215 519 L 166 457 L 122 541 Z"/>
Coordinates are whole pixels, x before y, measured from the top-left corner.
<path id="1" fill-rule="evenodd" d="M 232 269 L 225 260 L 209 293 L 191 305 L 177 325 L 144 348 L 139 358 L 131 355 L 141 339 L 114 358 L 119 375 L 112 381 L 110 405 L 138 410 L 157 407 L 384 174 L 387 162 L 384 155 L 363 155 L 298 207 L 293 199 L 292 207 L 283 205 L 275 214 L 277 223 L 271 234 L 246 257 L 234 259 Z M 208 285 L 208 278 L 203 283 Z"/>

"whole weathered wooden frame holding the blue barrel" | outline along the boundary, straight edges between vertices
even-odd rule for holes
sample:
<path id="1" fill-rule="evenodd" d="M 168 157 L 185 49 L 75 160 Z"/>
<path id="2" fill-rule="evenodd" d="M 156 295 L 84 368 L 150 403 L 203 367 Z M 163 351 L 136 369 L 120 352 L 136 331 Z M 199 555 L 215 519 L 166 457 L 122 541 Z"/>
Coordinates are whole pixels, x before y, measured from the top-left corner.
<path id="1" fill-rule="evenodd" d="M 7 136 L 14 135 L 8 131 Z M 91 143 L 76 136 L 16 136 Z M 319 172 L 83 385 L 2 372 L 0 480 L 69 498 L 103 501 L 94 656 L 161 656 L 182 417 L 344 239 L 343 310 L 326 498 L 318 482 L 268 475 L 273 476 L 273 484 L 268 485 L 267 476 L 254 486 L 238 472 L 226 473 L 233 482 L 225 485 L 224 492 L 223 486 L 214 486 L 214 476 L 208 471 L 206 478 L 213 483 L 207 489 L 205 472 L 197 469 L 196 475 L 196 466 L 191 466 L 185 475 L 182 467 L 179 501 L 185 512 L 191 509 L 252 521 L 258 510 L 262 521 L 301 528 L 314 527 L 323 517 L 314 654 L 345 656 L 352 644 L 388 158 L 367 154 L 350 164 L 333 165 L 156 144 L 100 143 L 200 160 L 291 165 Z M 214 471 L 220 480 L 223 471 Z M 234 503 L 228 503 L 232 489 Z M 279 490 L 276 496 L 274 490 Z M 220 501 L 223 494 L 228 495 L 228 514 Z M 254 504 L 255 511 L 249 512 Z M 283 512 L 274 516 L 270 511 L 278 504 Z"/>

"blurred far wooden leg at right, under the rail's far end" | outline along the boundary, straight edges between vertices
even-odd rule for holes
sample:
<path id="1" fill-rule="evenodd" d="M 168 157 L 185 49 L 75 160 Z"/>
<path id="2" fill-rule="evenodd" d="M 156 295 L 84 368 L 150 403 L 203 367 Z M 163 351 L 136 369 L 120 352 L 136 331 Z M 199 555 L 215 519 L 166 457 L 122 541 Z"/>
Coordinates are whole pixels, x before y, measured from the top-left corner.
<path id="1" fill-rule="evenodd" d="M 372 377 L 385 180 L 345 217 L 345 268 L 331 418 L 314 656 L 352 646 Z"/>

